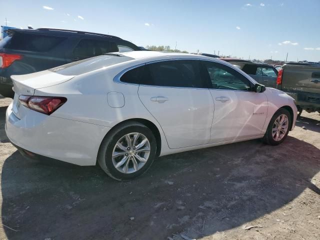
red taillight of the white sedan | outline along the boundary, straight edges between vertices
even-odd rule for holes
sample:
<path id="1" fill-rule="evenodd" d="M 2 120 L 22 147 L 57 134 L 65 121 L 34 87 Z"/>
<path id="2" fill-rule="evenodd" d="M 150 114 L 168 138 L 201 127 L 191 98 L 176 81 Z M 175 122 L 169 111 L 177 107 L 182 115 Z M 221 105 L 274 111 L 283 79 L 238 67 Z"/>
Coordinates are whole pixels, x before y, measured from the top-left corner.
<path id="1" fill-rule="evenodd" d="M 23 106 L 47 115 L 50 115 L 66 102 L 66 98 L 61 96 L 19 95 L 18 99 Z"/>

